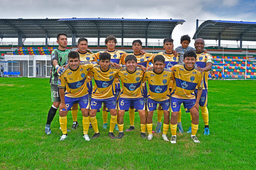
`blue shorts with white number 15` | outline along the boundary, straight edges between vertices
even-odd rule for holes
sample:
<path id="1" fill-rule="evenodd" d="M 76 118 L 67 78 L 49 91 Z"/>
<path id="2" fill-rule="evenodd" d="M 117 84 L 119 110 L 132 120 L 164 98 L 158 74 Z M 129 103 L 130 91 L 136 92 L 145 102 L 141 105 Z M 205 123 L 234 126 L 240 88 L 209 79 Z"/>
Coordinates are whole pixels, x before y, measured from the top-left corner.
<path id="1" fill-rule="evenodd" d="M 97 110 L 101 109 L 103 102 L 106 104 L 106 110 L 116 109 L 116 98 L 115 97 L 111 97 L 108 99 L 91 98 L 90 109 L 97 109 Z"/>

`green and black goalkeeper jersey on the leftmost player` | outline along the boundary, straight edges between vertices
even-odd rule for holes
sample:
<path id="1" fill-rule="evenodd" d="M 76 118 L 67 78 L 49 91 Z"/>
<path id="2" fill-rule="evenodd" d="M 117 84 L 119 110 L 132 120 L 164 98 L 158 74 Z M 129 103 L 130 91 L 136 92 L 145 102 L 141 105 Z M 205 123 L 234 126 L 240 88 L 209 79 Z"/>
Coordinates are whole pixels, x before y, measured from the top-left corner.
<path id="1" fill-rule="evenodd" d="M 59 50 L 58 48 L 52 51 L 51 56 L 51 64 L 52 64 L 52 76 L 50 77 L 50 83 L 58 85 L 58 73 L 56 68 L 53 65 L 53 60 L 58 61 L 59 66 L 63 66 L 67 64 L 68 61 L 68 53 L 70 52 L 69 49 Z"/>

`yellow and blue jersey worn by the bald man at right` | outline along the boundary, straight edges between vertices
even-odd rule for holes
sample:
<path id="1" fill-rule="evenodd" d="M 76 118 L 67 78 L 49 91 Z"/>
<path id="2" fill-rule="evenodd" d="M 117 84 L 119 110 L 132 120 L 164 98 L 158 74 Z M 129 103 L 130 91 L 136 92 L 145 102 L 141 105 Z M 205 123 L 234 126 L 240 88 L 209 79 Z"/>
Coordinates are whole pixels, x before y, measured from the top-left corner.
<path id="1" fill-rule="evenodd" d="M 207 53 L 201 52 L 201 53 L 196 53 L 196 63 L 195 66 L 196 67 L 200 67 L 200 68 L 204 68 L 206 67 L 206 64 L 208 62 L 213 63 L 212 61 L 212 55 Z M 204 71 L 203 73 L 203 89 L 208 89 L 208 72 Z"/>

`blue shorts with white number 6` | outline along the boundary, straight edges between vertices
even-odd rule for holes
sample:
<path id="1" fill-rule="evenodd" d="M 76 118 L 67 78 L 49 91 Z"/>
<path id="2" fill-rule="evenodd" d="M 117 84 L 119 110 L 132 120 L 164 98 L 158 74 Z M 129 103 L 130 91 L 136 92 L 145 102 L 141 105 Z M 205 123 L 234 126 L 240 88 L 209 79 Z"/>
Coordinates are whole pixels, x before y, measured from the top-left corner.
<path id="1" fill-rule="evenodd" d="M 119 98 L 119 109 L 118 110 L 129 110 L 130 106 L 133 106 L 137 110 L 145 110 L 144 98 Z"/>

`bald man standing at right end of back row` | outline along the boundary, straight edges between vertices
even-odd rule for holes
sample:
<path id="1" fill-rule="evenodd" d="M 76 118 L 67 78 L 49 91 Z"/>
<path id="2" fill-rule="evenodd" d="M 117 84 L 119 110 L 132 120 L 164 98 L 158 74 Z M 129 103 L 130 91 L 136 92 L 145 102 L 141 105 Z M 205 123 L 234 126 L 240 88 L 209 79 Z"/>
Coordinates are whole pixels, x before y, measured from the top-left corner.
<path id="1" fill-rule="evenodd" d="M 203 74 L 203 92 L 199 100 L 199 106 L 201 108 L 202 117 L 204 120 L 204 135 L 210 134 L 209 129 L 209 112 L 207 109 L 207 97 L 208 97 L 208 71 L 212 69 L 213 61 L 211 54 L 204 53 L 204 40 L 198 38 L 195 40 L 195 47 L 196 47 L 196 63 L 198 70 Z M 197 96 L 197 90 L 195 89 L 195 94 Z M 191 127 L 188 129 L 188 133 L 191 133 Z"/>

